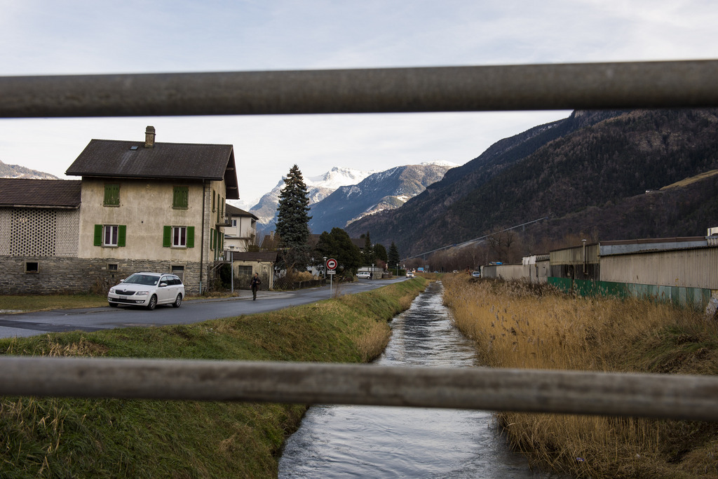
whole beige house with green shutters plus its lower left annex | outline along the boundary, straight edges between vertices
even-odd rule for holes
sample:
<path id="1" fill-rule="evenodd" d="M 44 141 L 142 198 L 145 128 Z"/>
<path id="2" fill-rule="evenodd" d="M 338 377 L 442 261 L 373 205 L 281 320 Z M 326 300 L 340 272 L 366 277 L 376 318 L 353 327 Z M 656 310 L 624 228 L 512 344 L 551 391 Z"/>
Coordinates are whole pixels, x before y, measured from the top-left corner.
<path id="1" fill-rule="evenodd" d="M 154 139 L 91 140 L 66 172 L 81 180 L 4 180 L 0 294 L 101 292 L 136 271 L 213 286 L 239 199 L 233 147 Z"/>

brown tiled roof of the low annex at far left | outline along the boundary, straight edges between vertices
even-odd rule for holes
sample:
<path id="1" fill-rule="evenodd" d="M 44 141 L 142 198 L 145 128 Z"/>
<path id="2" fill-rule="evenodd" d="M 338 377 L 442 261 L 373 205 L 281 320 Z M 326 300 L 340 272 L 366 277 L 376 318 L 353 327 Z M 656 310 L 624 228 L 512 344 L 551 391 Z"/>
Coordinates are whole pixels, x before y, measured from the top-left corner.
<path id="1" fill-rule="evenodd" d="M 0 206 L 78 208 L 80 180 L 0 178 Z"/>

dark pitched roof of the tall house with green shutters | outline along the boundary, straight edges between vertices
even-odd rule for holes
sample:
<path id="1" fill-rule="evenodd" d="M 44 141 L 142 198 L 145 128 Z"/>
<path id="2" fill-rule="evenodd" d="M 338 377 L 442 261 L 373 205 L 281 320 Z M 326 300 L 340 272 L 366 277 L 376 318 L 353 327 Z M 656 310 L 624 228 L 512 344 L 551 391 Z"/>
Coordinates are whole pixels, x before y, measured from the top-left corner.
<path id="1" fill-rule="evenodd" d="M 65 175 L 122 178 L 225 180 L 227 197 L 239 199 L 234 148 L 230 144 L 90 140 Z"/>

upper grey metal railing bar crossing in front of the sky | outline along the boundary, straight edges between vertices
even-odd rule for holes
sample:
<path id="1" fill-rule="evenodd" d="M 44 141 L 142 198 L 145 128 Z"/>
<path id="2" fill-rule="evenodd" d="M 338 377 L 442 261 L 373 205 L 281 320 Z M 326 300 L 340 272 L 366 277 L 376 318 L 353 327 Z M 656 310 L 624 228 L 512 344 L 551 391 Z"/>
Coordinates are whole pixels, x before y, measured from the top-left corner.
<path id="1" fill-rule="evenodd" d="M 0 77 L 0 117 L 718 106 L 718 60 Z"/>

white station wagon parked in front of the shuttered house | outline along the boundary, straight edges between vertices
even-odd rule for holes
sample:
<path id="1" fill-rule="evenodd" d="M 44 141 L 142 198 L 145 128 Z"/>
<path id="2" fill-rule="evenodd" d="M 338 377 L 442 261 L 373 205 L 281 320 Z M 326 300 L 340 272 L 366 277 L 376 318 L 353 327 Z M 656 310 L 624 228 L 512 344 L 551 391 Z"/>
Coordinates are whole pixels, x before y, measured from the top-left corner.
<path id="1" fill-rule="evenodd" d="M 185 297 L 185 285 L 174 274 L 135 273 L 110 288 L 107 301 L 111 307 L 143 306 L 154 310 L 157 304 L 180 307 Z"/>

